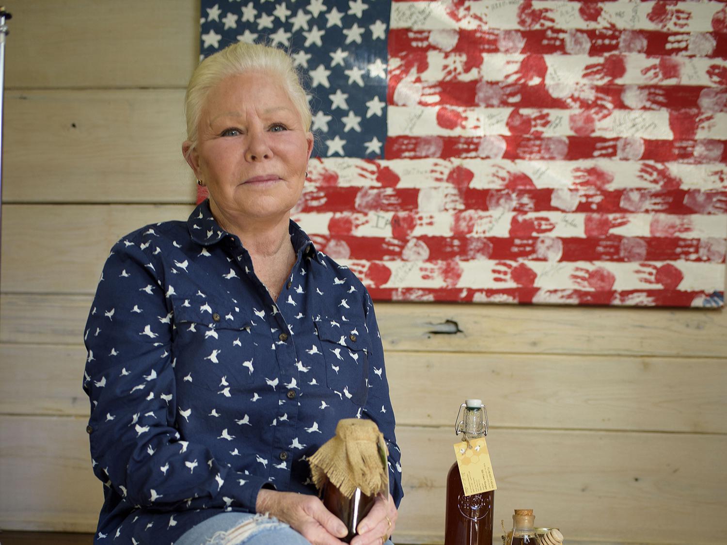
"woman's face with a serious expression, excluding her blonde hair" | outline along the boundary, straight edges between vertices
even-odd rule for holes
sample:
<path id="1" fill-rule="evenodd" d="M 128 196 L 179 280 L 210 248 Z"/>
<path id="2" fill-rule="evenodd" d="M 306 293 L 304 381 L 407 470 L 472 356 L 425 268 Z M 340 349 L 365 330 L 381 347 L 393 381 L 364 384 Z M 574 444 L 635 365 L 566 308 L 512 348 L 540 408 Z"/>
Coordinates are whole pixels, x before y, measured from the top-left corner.
<path id="1" fill-rule="evenodd" d="M 182 151 L 209 188 L 212 212 L 235 224 L 289 213 L 302 193 L 313 134 L 279 79 L 250 71 L 210 90 L 188 154 L 190 145 Z"/>

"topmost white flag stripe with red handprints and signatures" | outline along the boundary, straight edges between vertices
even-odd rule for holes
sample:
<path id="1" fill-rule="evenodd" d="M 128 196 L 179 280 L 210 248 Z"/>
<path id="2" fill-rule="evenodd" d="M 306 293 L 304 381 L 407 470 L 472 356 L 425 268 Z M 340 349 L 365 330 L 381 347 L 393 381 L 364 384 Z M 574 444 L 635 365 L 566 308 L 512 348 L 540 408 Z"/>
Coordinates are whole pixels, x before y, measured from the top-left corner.
<path id="1" fill-rule="evenodd" d="M 553 21 L 543 21 L 535 28 L 604 28 L 613 24 L 618 30 L 648 30 L 667 32 L 711 32 L 712 17 L 722 9 L 723 4 L 712 2 L 679 2 L 675 6 L 668 6 L 667 25 L 662 28 L 658 20 L 648 18 L 654 1 L 606 1 L 600 2 L 603 8 L 601 17 L 597 21 L 585 21 L 578 14 L 583 2 L 575 1 L 542 1 L 532 3 L 534 10 L 546 9 L 545 15 Z M 518 23 L 518 7 L 521 1 L 470 1 L 466 10 L 459 11 L 459 28 L 481 28 L 483 21 L 490 29 L 521 29 Z M 458 28 L 454 20 L 446 12 L 449 2 L 414 1 L 393 2 L 391 6 L 392 28 L 414 29 L 446 29 Z"/>

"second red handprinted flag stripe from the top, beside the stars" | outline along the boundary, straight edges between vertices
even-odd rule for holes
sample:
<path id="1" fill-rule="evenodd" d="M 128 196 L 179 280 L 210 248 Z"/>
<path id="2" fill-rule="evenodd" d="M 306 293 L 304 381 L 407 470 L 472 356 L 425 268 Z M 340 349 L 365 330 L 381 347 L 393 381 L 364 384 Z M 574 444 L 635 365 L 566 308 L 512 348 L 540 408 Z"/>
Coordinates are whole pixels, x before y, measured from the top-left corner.
<path id="1" fill-rule="evenodd" d="M 689 110 L 710 114 L 727 111 L 727 87 L 616 84 L 573 85 L 566 96 L 555 98 L 545 84 L 513 84 L 506 81 L 436 81 L 422 84 L 421 106 L 542 109 Z M 562 88 L 561 88 L 562 90 Z M 593 92 L 592 92 L 593 91 Z M 390 93 L 393 96 L 393 91 Z M 433 100 L 434 96 L 439 100 Z M 625 102 L 624 102 L 625 100 Z M 392 102 L 389 103 L 393 104 Z"/>

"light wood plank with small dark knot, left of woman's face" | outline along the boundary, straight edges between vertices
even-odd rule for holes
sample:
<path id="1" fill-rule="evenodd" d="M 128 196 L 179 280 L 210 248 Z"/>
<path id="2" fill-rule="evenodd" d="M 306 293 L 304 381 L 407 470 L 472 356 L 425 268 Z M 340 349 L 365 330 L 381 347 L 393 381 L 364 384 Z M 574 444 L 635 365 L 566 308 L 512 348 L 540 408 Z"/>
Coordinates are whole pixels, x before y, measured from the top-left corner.
<path id="1" fill-rule="evenodd" d="M 182 89 L 7 92 L 3 201 L 194 202 L 183 102 Z"/>

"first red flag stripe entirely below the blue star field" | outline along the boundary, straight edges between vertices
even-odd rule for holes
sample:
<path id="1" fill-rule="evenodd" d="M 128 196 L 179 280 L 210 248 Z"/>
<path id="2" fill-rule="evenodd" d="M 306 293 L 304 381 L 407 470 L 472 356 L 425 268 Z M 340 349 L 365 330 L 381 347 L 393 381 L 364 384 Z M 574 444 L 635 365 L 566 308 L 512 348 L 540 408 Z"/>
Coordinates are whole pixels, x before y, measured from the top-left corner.
<path id="1" fill-rule="evenodd" d="M 468 178 L 471 180 L 472 178 Z M 462 206 L 465 210 L 506 210 L 508 212 L 561 211 L 558 207 L 563 197 L 553 188 L 528 188 L 523 186 L 526 176 L 517 178 L 519 185 L 503 189 L 476 189 L 459 187 L 459 199 L 451 212 Z M 422 184 L 424 185 L 424 184 Z M 454 186 L 451 186 L 453 189 Z M 306 191 L 298 212 L 405 212 L 419 208 L 420 188 L 376 188 L 376 187 L 321 187 Z M 685 189 L 630 188 L 605 191 L 585 188 L 578 191 L 578 202 L 569 212 L 664 212 L 689 215 L 727 212 L 727 191 L 699 191 Z"/>

